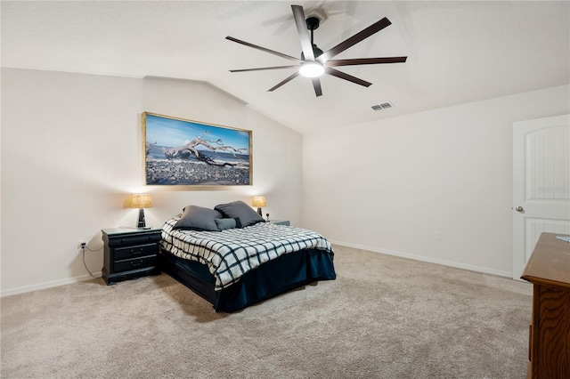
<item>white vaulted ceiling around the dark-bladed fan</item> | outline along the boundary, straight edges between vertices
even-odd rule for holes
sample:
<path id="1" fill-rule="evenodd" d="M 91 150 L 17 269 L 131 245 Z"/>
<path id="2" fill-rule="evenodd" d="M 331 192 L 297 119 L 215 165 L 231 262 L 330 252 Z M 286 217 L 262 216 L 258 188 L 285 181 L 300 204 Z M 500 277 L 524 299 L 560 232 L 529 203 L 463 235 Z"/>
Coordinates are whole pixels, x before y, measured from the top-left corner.
<path id="1" fill-rule="evenodd" d="M 225 36 L 300 54 L 290 4 L 324 14 L 323 51 L 387 17 L 336 58 L 408 61 L 338 68 L 372 85 L 324 76 L 319 98 L 305 77 L 267 92 L 293 69 L 230 73 L 290 61 Z M 1 11 L 3 67 L 207 81 L 302 133 L 570 82 L 568 1 L 2 1 Z M 394 108 L 371 109 L 386 101 Z"/>

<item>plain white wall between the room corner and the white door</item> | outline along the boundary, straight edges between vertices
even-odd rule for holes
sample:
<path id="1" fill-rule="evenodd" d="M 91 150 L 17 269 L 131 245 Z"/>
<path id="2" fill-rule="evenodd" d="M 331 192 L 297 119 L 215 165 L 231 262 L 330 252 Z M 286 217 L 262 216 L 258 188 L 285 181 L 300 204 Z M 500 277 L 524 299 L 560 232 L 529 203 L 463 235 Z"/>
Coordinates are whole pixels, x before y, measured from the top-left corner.
<path id="1" fill-rule="evenodd" d="M 568 113 L 569 91 L 305 135 L 303 225 L 341 245 L 510 276 L 512 124 Z"/>

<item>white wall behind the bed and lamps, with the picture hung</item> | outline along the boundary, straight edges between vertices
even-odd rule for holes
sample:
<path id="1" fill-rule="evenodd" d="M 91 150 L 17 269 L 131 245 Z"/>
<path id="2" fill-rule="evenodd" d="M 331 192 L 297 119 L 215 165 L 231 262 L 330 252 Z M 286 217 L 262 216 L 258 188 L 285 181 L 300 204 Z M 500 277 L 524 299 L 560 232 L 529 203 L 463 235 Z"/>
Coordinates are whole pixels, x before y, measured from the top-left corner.
<path id="1" fill-rule="evenodd" d="M 252 130 L 253 185 L 145 187 L 143 111 Z M 273 218 L 301 220 L 302 136 L 203 83 L 2 69 L 1 164 L 3 295 L 85 278 L 77 241 L 97 249 L 101 229 L 134 226 L 134 192 L 151 192 L 157 227 L 188 204 L 257 194 Z M 102 250 L 86 262 L 100 271 Z"/>

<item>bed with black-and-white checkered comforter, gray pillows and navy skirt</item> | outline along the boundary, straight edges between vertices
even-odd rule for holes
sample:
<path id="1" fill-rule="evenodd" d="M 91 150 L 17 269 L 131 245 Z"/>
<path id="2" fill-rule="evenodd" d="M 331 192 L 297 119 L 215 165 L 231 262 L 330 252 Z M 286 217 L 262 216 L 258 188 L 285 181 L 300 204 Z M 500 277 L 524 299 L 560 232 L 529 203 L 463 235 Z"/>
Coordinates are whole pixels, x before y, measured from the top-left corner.
<path id="1" fill-rule="evenodd" d="M 162 228 L 160 269 L 232 312 L 316 280 L 336 278 L 330 242 L 313 230 L 265 222 L 236 201 L 186 206 Z"/>

